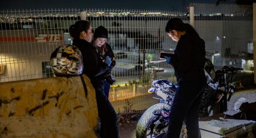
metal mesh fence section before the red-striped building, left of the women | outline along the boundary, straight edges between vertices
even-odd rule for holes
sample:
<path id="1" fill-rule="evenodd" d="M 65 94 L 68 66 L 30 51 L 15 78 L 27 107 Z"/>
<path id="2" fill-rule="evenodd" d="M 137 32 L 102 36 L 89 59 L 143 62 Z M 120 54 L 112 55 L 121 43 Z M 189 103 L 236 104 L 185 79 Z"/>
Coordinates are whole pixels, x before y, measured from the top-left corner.
<path id="1" fill-rule="evenodd" d="M 63 44 L 62 34 L 78 17 L 76 9 L 2 11 L 0 82 L 52 76 L 48 60 Z"/>

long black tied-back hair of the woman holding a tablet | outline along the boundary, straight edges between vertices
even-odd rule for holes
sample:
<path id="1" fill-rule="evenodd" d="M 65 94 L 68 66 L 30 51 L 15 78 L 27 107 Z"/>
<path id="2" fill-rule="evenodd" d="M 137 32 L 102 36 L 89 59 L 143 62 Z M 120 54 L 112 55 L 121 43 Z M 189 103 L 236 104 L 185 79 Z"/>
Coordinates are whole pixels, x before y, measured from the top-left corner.
<path id="1" fill-rule="evenodd" d="M 195 29 L 188 23 L 183 23 L 180 18 L 171 18 L 165 27 L 165 32 L 170 33 L 172 30 L 186 31 L 195 37 L 199 37 Z M 200 38 L 200 37 L 199 37 Z"/>

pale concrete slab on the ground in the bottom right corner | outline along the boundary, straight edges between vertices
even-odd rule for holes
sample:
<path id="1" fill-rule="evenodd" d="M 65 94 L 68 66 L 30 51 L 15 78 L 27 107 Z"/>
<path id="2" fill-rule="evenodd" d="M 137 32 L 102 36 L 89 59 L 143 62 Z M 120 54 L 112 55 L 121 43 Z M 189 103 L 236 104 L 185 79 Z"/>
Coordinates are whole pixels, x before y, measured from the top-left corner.
<path id="1" fill-rule="evenodd" d="M 230 119 L 221 114 L 200 119 L 199 128 L 202 138 L 248 137 L 248 135 L 253 135 L 253 131 L 256 130 L 256 122 Z"/>

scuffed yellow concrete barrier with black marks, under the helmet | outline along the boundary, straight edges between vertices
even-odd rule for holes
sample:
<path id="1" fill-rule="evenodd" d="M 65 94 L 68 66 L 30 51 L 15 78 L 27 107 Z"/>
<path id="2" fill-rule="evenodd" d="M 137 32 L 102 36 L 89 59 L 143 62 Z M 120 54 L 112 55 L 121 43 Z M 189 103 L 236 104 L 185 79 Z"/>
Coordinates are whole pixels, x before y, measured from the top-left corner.
<path id="1" fill-rule="evenodd" d="M 95 90 L 83 78 L 87 98 L 80 76 L 0 83 L 0 137 L 96 137 Z"/>

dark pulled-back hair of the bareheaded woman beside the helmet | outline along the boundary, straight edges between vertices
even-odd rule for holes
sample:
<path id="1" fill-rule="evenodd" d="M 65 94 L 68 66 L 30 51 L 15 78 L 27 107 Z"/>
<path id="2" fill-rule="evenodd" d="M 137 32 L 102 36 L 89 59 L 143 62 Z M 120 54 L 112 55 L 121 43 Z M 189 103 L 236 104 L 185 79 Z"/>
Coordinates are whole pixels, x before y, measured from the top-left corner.
<path id="1" fill-rule="evenodd" d="M 90 25 L 90 22 L 80 20 L 77 21 L 75 24 L 70 25 L 68 31 L 70 32 L 71 37 L 79 38 L 81 32 L 85 31 L 87 33 L 88 29 L 90 28 Z"/>

